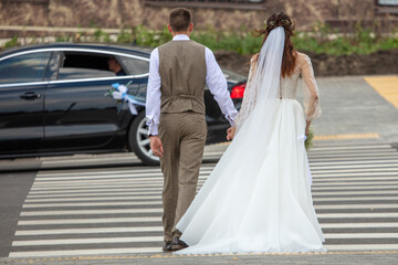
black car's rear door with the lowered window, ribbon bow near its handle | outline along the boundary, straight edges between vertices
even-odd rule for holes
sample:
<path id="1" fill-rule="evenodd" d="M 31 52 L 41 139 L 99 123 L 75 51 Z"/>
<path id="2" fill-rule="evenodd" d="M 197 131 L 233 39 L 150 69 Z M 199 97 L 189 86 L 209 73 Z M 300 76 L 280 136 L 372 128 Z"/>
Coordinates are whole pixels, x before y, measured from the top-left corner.
<path id="1" fill-rule="evenodd" d="M 112 84 L 127 84 L 132 76 L 109 71 L 111 57 L 117 59 L 87 50 L 62 53 L 57 75 L 45 92 L 46 150 L 109 149 L 115 136 L 123 134 L 128 106 L 106 94 Z"/>

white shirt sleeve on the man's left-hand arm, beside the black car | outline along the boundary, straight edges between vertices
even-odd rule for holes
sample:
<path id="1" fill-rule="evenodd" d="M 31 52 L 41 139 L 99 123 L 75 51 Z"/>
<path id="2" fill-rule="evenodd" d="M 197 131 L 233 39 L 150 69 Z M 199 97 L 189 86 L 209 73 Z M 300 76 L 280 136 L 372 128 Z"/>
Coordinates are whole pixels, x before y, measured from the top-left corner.
<path id="1" fill-rule="evenodd" d="M 158 135 L 158 124 L 160 116 L 160 75 L 159 75 L 159 51 L 155 49 L 150 53 L 149 62 L 149 80 L 147 86 L 147 97 L 146 97 L 146 117 L 148 121 L 149 135 Z"/>

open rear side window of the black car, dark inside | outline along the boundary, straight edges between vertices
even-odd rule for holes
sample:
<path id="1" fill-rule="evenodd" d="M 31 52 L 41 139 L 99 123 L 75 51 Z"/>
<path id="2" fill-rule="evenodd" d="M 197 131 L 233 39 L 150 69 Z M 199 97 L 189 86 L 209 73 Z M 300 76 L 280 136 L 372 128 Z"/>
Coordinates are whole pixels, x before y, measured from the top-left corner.
<path id="1" fill-rule="evenodd" d="M 114 56 L 86 52 L 64 52 L 57 80 L 81 80 L 114 77 L 116 73 L 109 67 Z"/>

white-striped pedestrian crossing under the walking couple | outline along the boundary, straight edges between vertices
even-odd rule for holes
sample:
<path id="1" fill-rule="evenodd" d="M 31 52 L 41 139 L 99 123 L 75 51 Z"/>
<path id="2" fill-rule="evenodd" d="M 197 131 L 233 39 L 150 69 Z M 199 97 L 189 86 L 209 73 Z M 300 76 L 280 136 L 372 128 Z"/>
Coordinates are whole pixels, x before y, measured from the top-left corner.
<path id="1" fill-rule="evenodd" d="M 308 158 L 328 251 L 398 250 L 397 149 L 324 145 Z M 213 167 L 202 165 L 198 189 Z M 161 189 L 158 167 L 39 171 L 9 256 L 159 253 Z"/>

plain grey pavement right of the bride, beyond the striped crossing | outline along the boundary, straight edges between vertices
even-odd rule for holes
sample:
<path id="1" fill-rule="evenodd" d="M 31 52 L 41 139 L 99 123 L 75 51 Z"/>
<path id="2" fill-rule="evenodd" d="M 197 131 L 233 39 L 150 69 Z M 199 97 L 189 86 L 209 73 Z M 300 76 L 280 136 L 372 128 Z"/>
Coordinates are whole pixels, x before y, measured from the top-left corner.
<path id="1" fill-rule="evenodd" d="M 317 78 L 323 114 L 313 124 L 315 136 L 377 134 L 384 142 L 398 141 L 398 108 L 364 77 Z M 398 82 L 392 86 L 395 95 L 389 95 L 398 96 Z"/>

